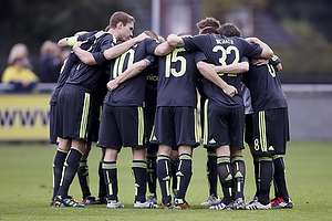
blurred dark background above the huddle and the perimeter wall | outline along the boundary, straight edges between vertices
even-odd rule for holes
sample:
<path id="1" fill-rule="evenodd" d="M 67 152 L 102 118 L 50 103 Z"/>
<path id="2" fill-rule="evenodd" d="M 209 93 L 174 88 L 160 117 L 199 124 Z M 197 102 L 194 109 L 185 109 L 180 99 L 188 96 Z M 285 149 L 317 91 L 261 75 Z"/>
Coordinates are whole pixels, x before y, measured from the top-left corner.
<path id="1" fill-rule="evenodd" d="M 245 36 L 258 36 L 272 46 L 284 66 L 283 83 L 332 83 L 331 9 L 329 0 L 2 0 L 0 74 L 13 44 L 28 45 L 38 73 L 44 41 L 104 29 L 111 14 L 121 10 L 135 17 L 135 34 L 195 34 L 195 24 L 206 17 L 232 22 Z"/>

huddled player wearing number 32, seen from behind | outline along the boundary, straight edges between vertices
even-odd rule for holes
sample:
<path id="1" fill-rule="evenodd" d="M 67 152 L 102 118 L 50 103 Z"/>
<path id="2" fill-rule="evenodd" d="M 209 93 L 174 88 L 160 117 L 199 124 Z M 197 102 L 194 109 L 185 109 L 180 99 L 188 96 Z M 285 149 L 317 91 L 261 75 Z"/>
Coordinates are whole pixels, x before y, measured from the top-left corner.
<path id="1" fill-rule="evenodd" d="M 272 50 L 253 38 L 247 42 L 240 38 L 226 38 L 224 35 L 196 35 L 193 38 L 178 38 L 170 34 L 167 38 L 170 45 L 185 46 L 188 51 L 201 51 L 207 62 L 215 65 L 238 63 L 242 56 L 267 57 L 273 55 Z M 257 44 L 256 44 L 257 43 Z M 200 71 L 207 69 L 198 65 Z M 234 178 L 241 186 L 245 172 L 245 161 L 241 149 L 243 148 L 243 101 L 240 90 L 240 76 L 224 74 L 220 76 L 227 84 L 234 85 L 236 90 L 225 93 L 214 82 L 206 80 L 204 90 L 207 95 L 205 103 L 205 147 L 214 147 L 217 154 L 217 172 L 221 182 L 224 199 L 220 203 L 211 206 L 210 209 L 245 209 L 245 199 L 237 198 L 232 202 L 231 186 Z M 222 131 L 220 134 L 220 131 Z M 232 158 L 232 160 L 230 159 Z M 242 192 L 240 192 L 242 194 Z"/>

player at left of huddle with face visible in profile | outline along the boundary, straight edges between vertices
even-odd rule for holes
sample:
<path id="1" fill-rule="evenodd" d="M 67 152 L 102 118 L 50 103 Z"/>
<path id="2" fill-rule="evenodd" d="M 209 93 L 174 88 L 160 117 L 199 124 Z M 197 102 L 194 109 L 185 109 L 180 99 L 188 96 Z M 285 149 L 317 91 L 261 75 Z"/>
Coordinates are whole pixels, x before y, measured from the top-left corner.
<path id="1" fill-rule="evenodd" d="M 129 40 L 133 35 L 134 21 L 134 18 L 125 12 L 115 12 L 110 19 L 110 30 L 96 33 L 97 39 L 89 52 L 80 48 L 82 42 L 73 45 L 73 50 L 81 61 L 60 91 L 55 106 L 55 136 L 60 138 L 59 148 L 64 152 L 69 151 L 63 162 L 55 207 L 84 207 L 84 204 L 76 203 L 68 194 L 68 191 L 77 171 L 80 159 L 86 148 L 87 135 L 91 131 L 92 92 L 105 74 L 108 60 L 118 56 L 145 39 L 145 34 L 142 34 Z M 113 49 L 114 41 L 126 40 L 128 40 L 126 43 Z"/>

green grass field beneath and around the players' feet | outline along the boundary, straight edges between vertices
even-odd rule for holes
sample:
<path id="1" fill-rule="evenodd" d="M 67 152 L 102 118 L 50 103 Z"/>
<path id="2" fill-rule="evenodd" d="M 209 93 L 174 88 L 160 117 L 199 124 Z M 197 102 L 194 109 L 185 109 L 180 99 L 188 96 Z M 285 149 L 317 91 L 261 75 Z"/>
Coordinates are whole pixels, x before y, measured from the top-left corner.
<path id="1" fill-rule="evenodd" d="M 124 209 L 106 206 L 52 208 L 52 159 L 54 146 L 0 144 L 0 220 L 332 220 L 332 141 L 291 141 L 286 156 L 287 181 L 294 208 L 269 211 L 214 211 L 200 203 L 208 197 L 206 152 L 194 150 L 194 175 L 188 188 L 189 210 L 139 210 L 133 208 L 132 152 L 118 157 L 120 201 Z M 89 166 L 91 188 L 97 194 L 100 149 L 92 149 Z M 255 192 L 253 168 L 245 150 L 246 200 Z M 219 192 L 221 189 L 219 188 Z M 80 199 L 75 178 L 70 194 Z M 160 196 L 160 194 L 159 194 Z"/>

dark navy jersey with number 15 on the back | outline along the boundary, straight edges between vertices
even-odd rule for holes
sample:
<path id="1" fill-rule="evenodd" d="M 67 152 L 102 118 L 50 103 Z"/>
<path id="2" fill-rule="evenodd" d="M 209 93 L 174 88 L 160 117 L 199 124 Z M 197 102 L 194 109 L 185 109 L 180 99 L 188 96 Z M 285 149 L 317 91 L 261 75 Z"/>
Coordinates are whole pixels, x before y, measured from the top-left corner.
<path id="1" fill-rule="evenodd" d="M 204 53 L 188 52 L 185 48 L 175 49 L 172 53 L 159 57 L 157 107 L 196 107 L 198 75 L 196 64 L 205 60 Z"/>

